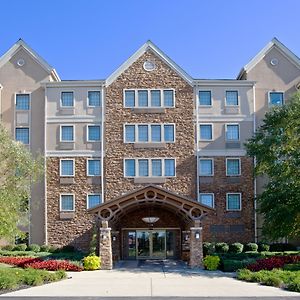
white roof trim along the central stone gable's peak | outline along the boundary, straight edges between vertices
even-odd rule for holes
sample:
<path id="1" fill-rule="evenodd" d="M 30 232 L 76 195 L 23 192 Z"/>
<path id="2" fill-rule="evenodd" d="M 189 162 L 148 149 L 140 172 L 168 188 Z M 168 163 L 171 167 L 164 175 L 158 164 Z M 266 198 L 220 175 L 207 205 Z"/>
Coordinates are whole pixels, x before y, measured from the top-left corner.
<path id="1" fill-rule="evenodd" d="M 169 67 L 171 67 L 179 76 L 186 80 L 190 85 L 193 78 L 188 75 L 181 67 L 179 67 L 171 58 L 162 52 L 156 45 L 148 40 L 141 48 L 139 48 L 132 56 L 130 56 L 116 71 L 114 71 L 107 79 L 106 85 L 110 85 L 118 76 L 120 76 L 128 67 L 130 67 L 141 55 L 147 50 L 151 50 L 159 56 Z"/>

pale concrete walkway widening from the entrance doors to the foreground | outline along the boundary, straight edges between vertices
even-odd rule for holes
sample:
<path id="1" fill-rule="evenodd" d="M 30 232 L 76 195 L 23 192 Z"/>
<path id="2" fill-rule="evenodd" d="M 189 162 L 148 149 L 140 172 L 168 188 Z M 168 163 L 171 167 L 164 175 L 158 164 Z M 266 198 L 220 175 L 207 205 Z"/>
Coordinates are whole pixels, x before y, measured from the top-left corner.
<path id="1" fill-rule="evenodd" d="M 300 297 L 299 293 L 238 281 L 233 273 L 191 270 L 175 261 L 120 262 L 112 271 L 72 272 L 69 277 L 2 297 Z"/>

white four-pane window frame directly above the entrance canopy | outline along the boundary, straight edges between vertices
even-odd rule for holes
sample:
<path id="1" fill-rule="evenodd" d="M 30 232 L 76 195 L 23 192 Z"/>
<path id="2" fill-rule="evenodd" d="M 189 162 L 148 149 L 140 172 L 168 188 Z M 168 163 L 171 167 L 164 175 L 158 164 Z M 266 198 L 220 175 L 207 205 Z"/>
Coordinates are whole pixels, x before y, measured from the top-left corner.
<path id="1" fill-rule="evenodd" d="M 126 176 L 125 175 L 125 161 L 127 159 L 132 159 L 135 162 L 135 176 Z M 152 176 L 152 160 L 161 160 L 162 164 L 161 164 L 161 174 L 162 176 Z M 165 160 L 166 159 L 173 159 L 174 160 L 174 168 L 175 168 L 175 172 L 174 172 L 174 176 L 165 176 Z M 139 160 L 148 160 L 148 176 L 139 176 L 139 165 L 138 165 L 138 161 Z M 175 178 L 176 177 L 176 165 L 177 165 L 177 161 L 176 158 L 173 157 L 151 157 L 151 158 L 145 158 L 145 157 L 125 157 L 123 159 L 123 175 L 124 178 Z"/>

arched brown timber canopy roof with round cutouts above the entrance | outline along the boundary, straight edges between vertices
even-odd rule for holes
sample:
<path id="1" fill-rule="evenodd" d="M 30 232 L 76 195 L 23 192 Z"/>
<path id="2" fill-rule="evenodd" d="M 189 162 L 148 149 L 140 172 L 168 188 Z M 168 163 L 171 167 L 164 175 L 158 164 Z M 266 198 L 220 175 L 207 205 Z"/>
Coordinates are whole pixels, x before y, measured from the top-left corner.
<path id="1" fill-rule="evenodd" d="M 117 223 L 125 214 L 137 208 L 158 207 L 178 215 L 186 223 L 201 220 L 213 208 L 158 186 L 148 185 L 89 209 L 102 221 Z"/>

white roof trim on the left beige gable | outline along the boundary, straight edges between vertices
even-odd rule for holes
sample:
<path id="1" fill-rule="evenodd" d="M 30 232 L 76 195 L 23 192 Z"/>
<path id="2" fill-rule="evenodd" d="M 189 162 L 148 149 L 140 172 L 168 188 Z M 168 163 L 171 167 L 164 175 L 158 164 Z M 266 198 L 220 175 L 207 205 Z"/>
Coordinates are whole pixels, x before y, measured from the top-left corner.
<path id="1" fill-rule="evenodd" d="M 49 74 L 53 75 L 55 80 L 60 81 L 55 69 L 51 67 L 38 53 L 36 53 L 27 43 L 19 39 L 8 51 L 0 57 L 0 68 L 6 64 L 20 49 L 24 49 L 29 55 Z"/>

